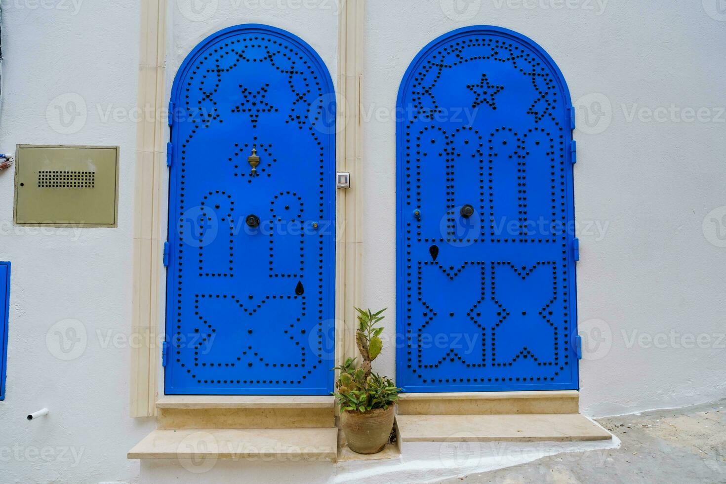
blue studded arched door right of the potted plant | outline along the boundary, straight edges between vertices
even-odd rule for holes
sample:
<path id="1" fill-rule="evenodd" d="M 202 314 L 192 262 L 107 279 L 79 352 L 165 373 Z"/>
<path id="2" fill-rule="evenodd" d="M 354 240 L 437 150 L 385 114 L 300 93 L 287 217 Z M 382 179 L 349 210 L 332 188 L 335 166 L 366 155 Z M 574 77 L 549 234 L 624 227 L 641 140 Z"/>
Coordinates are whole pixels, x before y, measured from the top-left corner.
<path id="1" fill-rule="evenodd" d="M 476 26 L 441 36 L 398 99 L 397 383 L 575 389 L 574 143 L 552 59 Z"/>

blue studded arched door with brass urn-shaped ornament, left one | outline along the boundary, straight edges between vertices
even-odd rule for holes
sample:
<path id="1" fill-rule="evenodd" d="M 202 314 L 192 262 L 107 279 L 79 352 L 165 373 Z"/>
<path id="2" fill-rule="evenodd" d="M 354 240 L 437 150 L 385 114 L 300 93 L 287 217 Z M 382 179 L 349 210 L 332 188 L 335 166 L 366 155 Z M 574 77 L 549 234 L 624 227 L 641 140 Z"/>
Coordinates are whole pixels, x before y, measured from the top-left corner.
<path id="1" fill-rule="evenodd" d="M 189 54 L 171 100 L 166 393 L 329 394 L 327 68 L 290 33 L 240 25 Z"/>

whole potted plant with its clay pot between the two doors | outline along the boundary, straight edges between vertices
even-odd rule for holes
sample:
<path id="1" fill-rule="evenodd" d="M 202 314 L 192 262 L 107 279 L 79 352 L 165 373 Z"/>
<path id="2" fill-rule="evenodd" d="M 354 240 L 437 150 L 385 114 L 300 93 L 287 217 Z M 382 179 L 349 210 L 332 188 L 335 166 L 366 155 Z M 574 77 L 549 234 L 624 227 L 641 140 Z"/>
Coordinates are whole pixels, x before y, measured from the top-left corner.
<path id="1" fill-rule="evenodd" d="M 356 358 L 348 358 L 335 382 L 335 399 L 340 406 L 340 426 L 348 440 L 348 447 L 358 454 L 375 454 L 383 450 L 393 429 L 393 410 L 399 398 L 400 388 L 388 379 L 371 371 L 371 362 L 380 355 L 383 327 L 375 325 L 383 319 L 369 310 L 358 311 L 359 326 L 356 344 L 363 362 L 356 365 Z"/>

